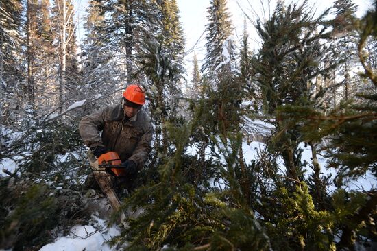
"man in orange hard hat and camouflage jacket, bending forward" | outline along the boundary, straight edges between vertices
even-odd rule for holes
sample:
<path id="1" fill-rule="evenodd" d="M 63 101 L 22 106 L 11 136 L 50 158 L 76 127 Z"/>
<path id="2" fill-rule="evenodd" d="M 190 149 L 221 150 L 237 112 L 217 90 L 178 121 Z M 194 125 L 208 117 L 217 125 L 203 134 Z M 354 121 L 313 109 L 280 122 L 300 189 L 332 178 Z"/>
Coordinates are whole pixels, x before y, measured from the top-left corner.
<path id="1" fill-rule="evenodd" d="M 118 182 L 127 183 L 127 189 L 132 187 L 151 152 L 153 130 L 148 115 L 141 109 L 143 104 L 145 92 L 130 84 L 123 92 L 121 104 L 87 115 L 79 125 L 84 143 L 97 158 L 106 152 L 119 154 L 122 175 Z"/>

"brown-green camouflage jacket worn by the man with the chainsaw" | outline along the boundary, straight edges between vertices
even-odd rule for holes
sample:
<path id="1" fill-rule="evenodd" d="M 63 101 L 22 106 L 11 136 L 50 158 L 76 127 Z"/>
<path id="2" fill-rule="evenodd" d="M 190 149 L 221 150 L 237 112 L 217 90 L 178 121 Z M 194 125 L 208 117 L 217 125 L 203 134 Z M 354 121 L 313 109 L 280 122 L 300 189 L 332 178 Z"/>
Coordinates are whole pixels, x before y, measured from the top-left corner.
<path id="1" fill-rule="evenodd" d="M 151 152 L 153 129 L 143 109 L 126 120 L 120 104 L 109 106 L 83 117 L 79 130 L 88 147 L 104 146 L 106 151 L 117 152 L 122 161 L 133 160 L 138 169 Z"/>

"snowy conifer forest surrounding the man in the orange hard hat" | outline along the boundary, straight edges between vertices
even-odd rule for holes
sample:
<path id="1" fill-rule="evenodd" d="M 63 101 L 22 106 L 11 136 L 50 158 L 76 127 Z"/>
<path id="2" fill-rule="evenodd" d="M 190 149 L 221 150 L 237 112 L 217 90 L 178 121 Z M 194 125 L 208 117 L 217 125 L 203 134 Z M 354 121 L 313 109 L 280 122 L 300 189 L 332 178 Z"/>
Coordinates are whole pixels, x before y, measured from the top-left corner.
<path id="1" fill-rule="evenodd" d="M 103 230 L 78 124 L 132 83 L 152 152 L 111 250 L 376 250 L 377 2 L 357 10 L 278 0 L 237 40 L 210 0 L 191 71 L 176 0 L 89 0 L 80 44 L 75 0 L 0 0 L 0 250 Z"/>

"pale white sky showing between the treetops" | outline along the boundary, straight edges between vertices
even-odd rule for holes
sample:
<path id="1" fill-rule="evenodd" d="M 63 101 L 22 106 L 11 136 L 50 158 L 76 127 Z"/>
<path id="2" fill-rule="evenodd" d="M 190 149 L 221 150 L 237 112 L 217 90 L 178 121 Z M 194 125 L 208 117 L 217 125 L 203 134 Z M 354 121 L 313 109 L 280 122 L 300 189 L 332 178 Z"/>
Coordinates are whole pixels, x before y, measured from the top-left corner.
<path id="1" fill-rule="evenodd" d="M 82 25 L 82 18 L 85 15 L 84 9 L 88 0 L 76 0 L 76 18 Z M 193 51 L 197 54 L 199 64 L 206 53 L 205 43 L 206 36 L 204 34 L 205 25 L 207 21 L 207 7 L 210 5 L 210 0 L 176 0 L 178 8 L 180 9 L 180 21 L 184 28 L 184 35 L 186 39 L 186 69 L 188 78 L 191 76 L 191 65 L 193 60 Z M 298 0 L 300 1 L 300 0 Z M 269 8 L 269 2 L 271 7 Z M 291 1 L 285 1 L 287 4 Z M 309 4 L 314 6 L 313 11 L 320 13 L 326 8 L 329 8 L 334 0 L 309 0 Z M 243 20 L 245 19 L 245 12 L 250 19 L 256 20 L 258 16 L 260 19 L 268 19 L 269 11 L 273 12 L 276 5 L 276 0 L 228 0 L 228 11 L 232 16 L 232 24 L 234 25 L 233 37 L 238 43 L 241 40 L 243 33 Z M 358 16 L 361 16 L 366 10 L 372 7 L 372 0 L 354 0 L 358 8 Z M 263 5 L 263 7 L 262 7 Z M 263 11 L 265 10 L 265 11 Z M 77 38 L 83 37 L 83 31 L 77 29 Z M 250 47 L 257 48 L 258 35 L 250 21 L 247 21 L 247 32 L 250 38 Z"/>

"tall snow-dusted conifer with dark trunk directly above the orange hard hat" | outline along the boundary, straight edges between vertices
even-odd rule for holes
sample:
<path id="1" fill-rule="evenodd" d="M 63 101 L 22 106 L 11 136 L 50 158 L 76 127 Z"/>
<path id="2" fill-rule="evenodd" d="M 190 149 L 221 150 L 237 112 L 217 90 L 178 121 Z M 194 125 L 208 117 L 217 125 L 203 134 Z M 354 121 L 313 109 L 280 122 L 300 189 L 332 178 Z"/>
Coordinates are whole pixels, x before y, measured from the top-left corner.
<path id="1" fill-rule="evenodd" d="M 134 56 L 143 49 L 146 37 L 154 38 L 160 31 L 158 5 L 154 0 L 115 0 L 99 7 L 105 16 L 104 40 L 117 51 L 119 62 L 125 65 L 127 83 L 130 83 L 135 77 Z"/>

